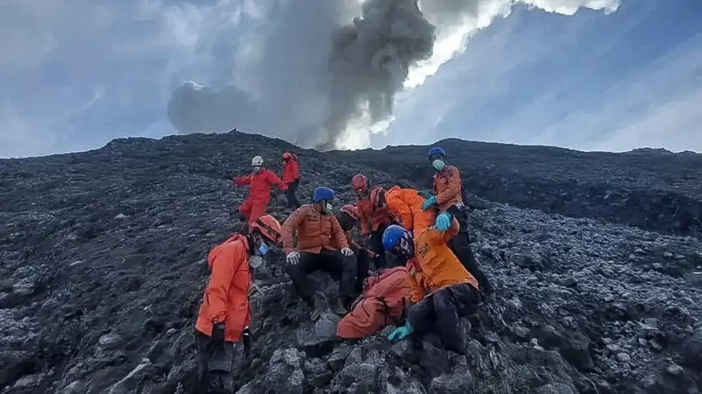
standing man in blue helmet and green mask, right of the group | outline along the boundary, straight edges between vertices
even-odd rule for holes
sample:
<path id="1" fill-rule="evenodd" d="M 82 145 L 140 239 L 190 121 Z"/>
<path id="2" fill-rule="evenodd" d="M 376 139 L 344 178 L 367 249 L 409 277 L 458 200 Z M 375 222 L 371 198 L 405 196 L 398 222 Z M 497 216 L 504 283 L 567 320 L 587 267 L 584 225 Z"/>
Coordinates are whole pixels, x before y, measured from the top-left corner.
<path id="1" fill-rule="evenodd" d="M 485 293 L 492 292 L 492 286 L 487 276 L 478 268 L 475 254 L 470 247 L 470 233 L 468 231 L 468 212 L 463 204 L 463 185 L 461 172 L 453 165 L 446 164 L 446 151 L 439 147 L 429 149 L 428 158 L 437 170 L 433 179 L 433 193 L 425 195 L 427 200 L 422 204 L 422 210 L 438 210 L 448 212 L 458 220 L 461 230 L 458 236 L 449 240 L 449 247 L 461 260 L 465 269 L 477 278 L 480 287 Z M 445 231 L 437 226 L 437 229 Z"/>

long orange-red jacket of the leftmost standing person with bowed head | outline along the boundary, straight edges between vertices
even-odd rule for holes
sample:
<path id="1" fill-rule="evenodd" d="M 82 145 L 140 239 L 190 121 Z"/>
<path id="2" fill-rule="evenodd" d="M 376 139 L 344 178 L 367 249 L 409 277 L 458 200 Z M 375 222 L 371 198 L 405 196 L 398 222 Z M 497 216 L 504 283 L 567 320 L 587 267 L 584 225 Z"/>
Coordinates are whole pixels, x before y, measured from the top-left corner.
<path id="1" fill-rule="evenodd" d="M 249 307 L 249 243 L 234 234 L 207 255 L 211 269 L 195 329 L 207 336 L 213 323 L 225 323 L 225 341 L 238 342 L 251 321 Z"/>

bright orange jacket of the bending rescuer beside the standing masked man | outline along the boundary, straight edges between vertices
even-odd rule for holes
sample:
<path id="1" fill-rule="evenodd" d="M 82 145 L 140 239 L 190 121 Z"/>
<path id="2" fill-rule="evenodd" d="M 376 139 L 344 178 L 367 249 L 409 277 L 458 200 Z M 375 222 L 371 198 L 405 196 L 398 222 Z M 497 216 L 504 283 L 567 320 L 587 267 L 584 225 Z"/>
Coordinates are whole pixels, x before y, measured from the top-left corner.
<path id="1" fill-rule="evenodd" d="M 420 196 L 415 189 L 400 189 L 399 186 L 394 186 L 385 192 L 388 212 L 413 234 L 421 233 L 434 225 L 435 210 L 422 210 L 425 200 L 426 198 Z"/>

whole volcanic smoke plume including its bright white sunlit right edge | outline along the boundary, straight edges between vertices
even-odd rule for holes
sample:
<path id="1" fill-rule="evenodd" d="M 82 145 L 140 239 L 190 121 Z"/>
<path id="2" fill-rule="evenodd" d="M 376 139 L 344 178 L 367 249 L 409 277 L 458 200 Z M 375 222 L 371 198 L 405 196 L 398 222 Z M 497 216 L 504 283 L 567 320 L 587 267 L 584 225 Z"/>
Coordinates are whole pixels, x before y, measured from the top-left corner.
<path id="1" fill-rule="evenodd" d="M 304 147 L 365 147 L 371 133 L 394 120 L 398 93 L 423 84 L 465 50 L 472 34 L 513 7 L 609 14 L 620 3 L 277 0 L 257 8 L 251 21 L 258 29 L 239 38 L 246 45 L 232 56 L 237 64 L 230 86 L 185 84 L 171 98 L 168 115 L 181 133 L 239 126 Z"/>

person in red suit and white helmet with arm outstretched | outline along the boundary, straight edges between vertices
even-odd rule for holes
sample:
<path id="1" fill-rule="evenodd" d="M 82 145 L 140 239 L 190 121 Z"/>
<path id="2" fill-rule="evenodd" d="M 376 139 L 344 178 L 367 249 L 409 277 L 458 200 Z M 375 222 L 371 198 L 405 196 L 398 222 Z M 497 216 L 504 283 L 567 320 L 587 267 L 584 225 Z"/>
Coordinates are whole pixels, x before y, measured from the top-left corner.
<path id="1" fill-rule="evenodd" d="M 270 186 L 275 185 L 281 190 L 288 189 L 288 186 L 274 172 L 263 168 L 263 158 L 261 156 L 253 156 L 251 165 L 253 166 L 251 174 L 232 179 L 234 184 L 238 186 L 249 185 L 249 196 L 246 197 L 244 203 L 239 205 L 239 214 L 246 222 L 249 222 L 249 226 L 258 217 L 264 215 L 268 209 Z"/>

